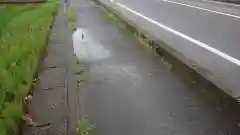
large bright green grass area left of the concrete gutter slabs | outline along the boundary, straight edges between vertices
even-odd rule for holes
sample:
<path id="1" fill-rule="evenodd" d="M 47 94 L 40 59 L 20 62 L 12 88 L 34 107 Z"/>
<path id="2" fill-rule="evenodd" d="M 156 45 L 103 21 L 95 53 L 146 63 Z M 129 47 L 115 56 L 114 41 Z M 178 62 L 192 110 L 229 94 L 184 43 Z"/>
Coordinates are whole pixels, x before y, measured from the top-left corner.
<path id="1" fill-rule="evenodd" d="M 58 1 L 0 5 L 0 135 L 16 130 Z"/>

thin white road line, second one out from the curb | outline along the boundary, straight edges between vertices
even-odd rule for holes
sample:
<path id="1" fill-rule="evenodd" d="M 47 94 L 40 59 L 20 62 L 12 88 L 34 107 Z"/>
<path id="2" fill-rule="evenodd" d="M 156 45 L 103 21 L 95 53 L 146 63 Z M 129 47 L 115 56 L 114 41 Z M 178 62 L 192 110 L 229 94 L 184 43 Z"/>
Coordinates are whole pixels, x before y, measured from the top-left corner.
<path id="1" fill-rule="evenodd" d="M 192 6 L 192 5 L 188 5 L 188 4 L 184 4 L 184 3 L 179 3 L 179 2 L 175 2 L 175 1 L 171 1 L 171 0 L 159 0 L 159 1 L 173 3 L 173 4 L 177 4 L 177 5 L 182 5 L 182 6 L 186 6 L 186 7 L 191 7 L 191 8 L 195 8 L 195 9 L 199 9 L 199 10 L 204 10 L 204 11 L 208 11 L 208 12 L 212 12 L 212 13 L 216 13 L 216 14 L 225 15 L 225 16 L 229 16 L 229 17 L 234 17 L 234 18 L 240 19 L 240 16 L 237 16 L 237 15 L 223 13 L 223 12 L 219 12 L 219 11 L 214 11 L 214 10 L 201 8 L 201 7 L 197 7 L 197 6 Z"/>

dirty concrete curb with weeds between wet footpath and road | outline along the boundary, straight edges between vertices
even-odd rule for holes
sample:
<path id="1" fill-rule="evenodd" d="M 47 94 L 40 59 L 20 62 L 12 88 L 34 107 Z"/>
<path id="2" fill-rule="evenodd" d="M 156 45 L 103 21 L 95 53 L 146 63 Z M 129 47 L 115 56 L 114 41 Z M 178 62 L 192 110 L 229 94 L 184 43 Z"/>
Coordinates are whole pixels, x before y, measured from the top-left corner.
<path id="1" fill-rule="evenodd" d="M 142 28 L 140 28 L 137 24 L 133 21 L 127 19 L 119 12 L 107 6 L 106 4 L 102 3 L 100 0 L 94 0 L 99 5 L 103 6 L 109 13 L 111 13 L 115 18 L 125 25 L 134 36 L 140 38 L 141 40 L 147 41 L 147 45 L 152 48 L 156 53 L 160 56 L 163 56 L 167 61 L 174 63 L 173 65 L 181 71 L 182 76 L 187 77 L 189 80 L 194 79 L 196 80 L 199 85 L 208 86 L 214 89 L 212 96 L 218 96 L 220 98 L 234 98 L 239 101 L 239 97 L 236 95 L 231 94 L 231 90 L 223 85 L 222 82 L 219 82 L 215 78 L 213 78 L 209 71 L 202 68 L 200 65 L 196 64 L 195 62 L 187 59 L 177 50 L 171 48 L 169 45 L 164 43 L 163 41 L 157 39 L 156 36 L 146 32 Z M 191 80 L 190 80 L 191 81 Z M 223 100 L 224 101 L 224 100 Z"/>

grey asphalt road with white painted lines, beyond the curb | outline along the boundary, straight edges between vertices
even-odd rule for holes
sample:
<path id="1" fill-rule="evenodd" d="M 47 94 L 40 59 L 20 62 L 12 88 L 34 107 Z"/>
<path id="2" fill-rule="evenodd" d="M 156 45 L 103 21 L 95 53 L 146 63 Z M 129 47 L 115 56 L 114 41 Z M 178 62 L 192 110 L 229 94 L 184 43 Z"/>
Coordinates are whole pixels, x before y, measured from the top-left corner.
<path id="1" fill-rule="evenodd" d="M 100 0 L 240 96 L 240 7 L 194 0 Z M 202 70 L 204 72 L 202 72 Z"/>

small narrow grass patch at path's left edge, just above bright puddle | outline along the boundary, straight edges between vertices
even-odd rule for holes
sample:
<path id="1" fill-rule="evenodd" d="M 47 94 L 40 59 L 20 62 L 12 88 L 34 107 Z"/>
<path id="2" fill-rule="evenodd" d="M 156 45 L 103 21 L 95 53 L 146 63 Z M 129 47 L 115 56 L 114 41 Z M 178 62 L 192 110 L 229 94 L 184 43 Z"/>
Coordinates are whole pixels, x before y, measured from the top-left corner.
<path id="1" fill-rule="evenodd" d="M 67 10 L 67 20 L 68 20 L 68 27 L 73 32 L 76 30 L 76 14 L 75 11 L 68 7 Z"/>

